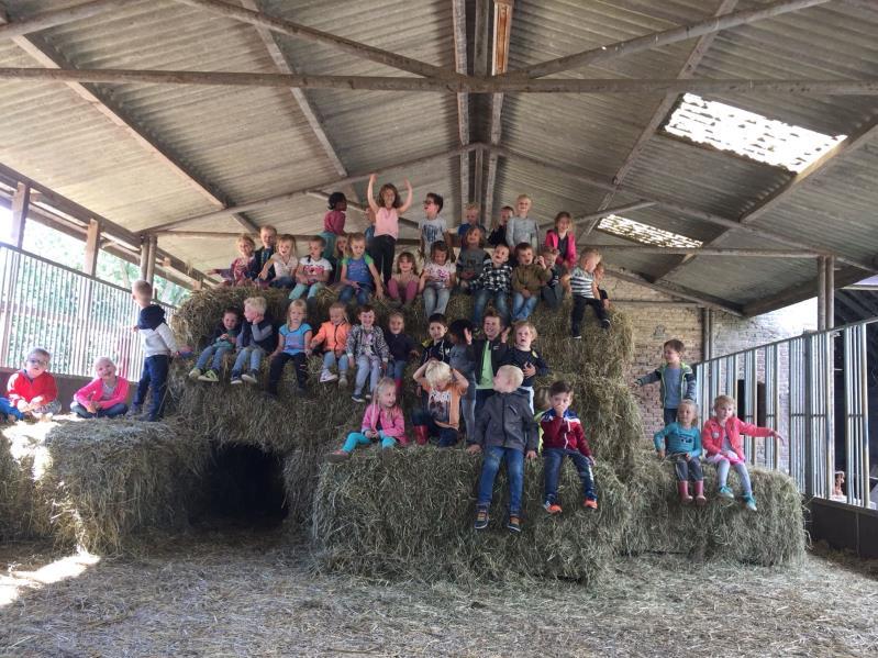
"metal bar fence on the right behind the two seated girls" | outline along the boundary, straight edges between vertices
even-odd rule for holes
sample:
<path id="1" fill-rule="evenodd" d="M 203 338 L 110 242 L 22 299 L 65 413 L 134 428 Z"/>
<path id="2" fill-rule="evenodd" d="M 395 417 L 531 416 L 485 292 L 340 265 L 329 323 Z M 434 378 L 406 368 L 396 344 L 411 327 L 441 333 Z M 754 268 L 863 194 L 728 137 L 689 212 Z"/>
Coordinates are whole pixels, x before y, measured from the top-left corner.
<path id="1" fill-rule="evenodd" d="M 746 437 L 747 461 L 788 472 L 807 495 L 875 509 L 867 349 L 875 323 L 878 319 L 696 364 L 704 415 L 716 395 L 737 398 L 742 420 L 777 428 L 785 439 Z M 841 494 L 834 491 L 840 472 Z"/>

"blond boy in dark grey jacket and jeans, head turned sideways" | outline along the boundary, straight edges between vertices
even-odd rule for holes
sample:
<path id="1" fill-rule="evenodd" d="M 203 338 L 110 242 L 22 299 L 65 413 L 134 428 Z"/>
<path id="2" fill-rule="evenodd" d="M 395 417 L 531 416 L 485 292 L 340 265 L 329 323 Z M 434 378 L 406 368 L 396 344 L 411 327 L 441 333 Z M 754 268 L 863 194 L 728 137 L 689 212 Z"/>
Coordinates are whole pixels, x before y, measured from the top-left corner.
<path id="1" fill-rule="evenodd" d="M 488 511 L 493 498 L 493 481 L 500 462 L 507 462 L 509 478 L 509 521 L 507 527 L 521 532 L 521 495 L 524 489 L 524 459 L 536 459 L 536 423 L 527 410 L 527 400 L 516 389 L 522 371 L 503 366 L 493 378 L 494 394 L 485 403 L 476 423 L 476 434 L 467 451 L 485 451 L 476 502 L 476 529 L 488 527 Z"/>

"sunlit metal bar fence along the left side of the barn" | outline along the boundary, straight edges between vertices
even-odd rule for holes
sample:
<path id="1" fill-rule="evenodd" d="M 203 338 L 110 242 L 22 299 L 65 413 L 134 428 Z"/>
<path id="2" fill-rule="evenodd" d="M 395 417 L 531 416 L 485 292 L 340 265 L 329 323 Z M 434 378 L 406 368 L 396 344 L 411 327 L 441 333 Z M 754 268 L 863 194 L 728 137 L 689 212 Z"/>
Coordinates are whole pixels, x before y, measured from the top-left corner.
<path id="1" fill-rule="evenodd" d="M 162 306 L 169 321 L 174 308 Z M 137 312 L 130 290 L 0 243 L 2 366 L 21 367 L 38 346 L 52 354 L 52 372 L 91 377 L 95 359 L 109 356 L 120 376 L 137 379 Z"/>

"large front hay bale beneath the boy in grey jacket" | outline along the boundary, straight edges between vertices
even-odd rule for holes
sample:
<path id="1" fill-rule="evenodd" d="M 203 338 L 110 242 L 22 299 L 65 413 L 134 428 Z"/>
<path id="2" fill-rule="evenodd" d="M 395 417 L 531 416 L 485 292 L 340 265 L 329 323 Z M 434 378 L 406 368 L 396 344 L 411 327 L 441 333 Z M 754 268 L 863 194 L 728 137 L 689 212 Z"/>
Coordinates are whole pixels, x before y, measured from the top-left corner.
<path id="1" fill-rule="evenodd" d="M 523 532 L 505 523 L 505 479 L 497 479 L 491 524 L 473 529 L 481 458 L 459 449 L 408 448 L 384 461 L 377 450 L 320 471 L 313 538 L 319 565 L 364 576 L 476 581 L 556 577 L 597 582 L 625 532 L 626 490 L 605 465 L 596 468 L 601 503 L 581 508 L 579 480 L 565 465 L 564 513 L 542 508 L 542 462 L 525 467 Z M 502 493 L 501 493 L 502 492 Z"/>

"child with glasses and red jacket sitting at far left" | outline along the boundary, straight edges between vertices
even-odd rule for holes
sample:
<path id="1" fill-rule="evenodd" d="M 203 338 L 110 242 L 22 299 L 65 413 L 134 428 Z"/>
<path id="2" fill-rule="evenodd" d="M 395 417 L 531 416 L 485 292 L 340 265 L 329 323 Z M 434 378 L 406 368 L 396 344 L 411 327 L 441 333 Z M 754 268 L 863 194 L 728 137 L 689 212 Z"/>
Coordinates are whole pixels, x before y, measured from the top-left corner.
<path id="1" fill-rule="evenodd" d="M 55 378 L 48 373 L 52 355 L 42 347 L 35 347 L 24 359 L 21 370 L 13 373 L 7 382 L 7 398 L 0 398 L 0 413 L 23 419 L 52 420 L 60 411 L 58 388 Z"/>

